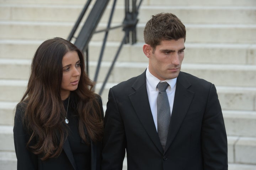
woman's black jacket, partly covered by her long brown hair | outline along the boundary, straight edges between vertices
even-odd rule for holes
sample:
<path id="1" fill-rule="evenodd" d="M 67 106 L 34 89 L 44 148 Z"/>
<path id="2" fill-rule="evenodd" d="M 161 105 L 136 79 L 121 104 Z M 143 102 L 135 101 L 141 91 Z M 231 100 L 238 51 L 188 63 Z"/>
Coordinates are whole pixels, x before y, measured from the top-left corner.
<path id="1" fill-rule="evenodd" d="M 99 100 L 102 106 L 101 99 Z M 103 108 L 101 108 L 103 118 Z M 24 110 L 19 103 L 16 107 L 14 120 L 14 145 L 17 157 L 17 170 L 78 170 L 73 153 L 71 151 L 68 138 L 64 142 L 63 151 L 58 158 L 49 158 L 42 161 L 39 156 L 33 154 L 26 148 L 26 143 L 30 138 L 29 132 L 23 126 L 22 115 Z M 35 141 L 32 141 L 32 143 Z M 101 169 L 102 143 L 91 141 L 91 170 Z"/>

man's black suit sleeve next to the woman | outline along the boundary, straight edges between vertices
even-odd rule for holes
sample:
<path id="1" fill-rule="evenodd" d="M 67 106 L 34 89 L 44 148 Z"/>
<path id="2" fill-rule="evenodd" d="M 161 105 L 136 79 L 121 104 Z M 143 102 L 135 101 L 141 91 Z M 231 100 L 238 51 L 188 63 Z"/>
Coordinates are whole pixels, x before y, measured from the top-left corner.
<path id="1" fill-rule="evenodd" d="M 103 135 L 102 170 L 122 170 L 126 135 L 114 92 L 108 93 Z"/>

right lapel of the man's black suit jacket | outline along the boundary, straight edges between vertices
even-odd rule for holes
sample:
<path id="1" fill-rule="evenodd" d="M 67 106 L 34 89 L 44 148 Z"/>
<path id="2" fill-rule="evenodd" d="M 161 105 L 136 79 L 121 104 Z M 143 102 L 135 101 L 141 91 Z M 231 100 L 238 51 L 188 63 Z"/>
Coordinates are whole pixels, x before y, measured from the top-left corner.
<path id="1" fill-rule="evenodd" d="M 165 151 L 170 147 L 178 130 L 180 129 L 182 121 L 185 118 L 190 103 L 193 99 L 194 92 L 187 90 L 189 86 L 191 86 L 191 84 L 185 79 L 183 73 L 180 72 L 177 78 L 174 105 L 171 114 Z"/>

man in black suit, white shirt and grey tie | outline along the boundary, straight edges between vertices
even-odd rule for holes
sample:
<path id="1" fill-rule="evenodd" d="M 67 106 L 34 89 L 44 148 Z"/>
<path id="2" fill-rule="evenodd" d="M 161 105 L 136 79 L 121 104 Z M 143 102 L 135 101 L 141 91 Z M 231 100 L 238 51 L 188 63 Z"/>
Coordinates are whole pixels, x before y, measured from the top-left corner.
<path id="1" fill-rule="evenodd" d="M 180 72 L 185 39 L 185 26 L 171 13 L 152 16 L 146 24 L 148 68 L 108 94 L 102 170 L 121 170 L 125 152 L 128 170 L 228 169 L 215 86 Z M 159 90 L 159 82 L 167 82 L 161 83 L 167 89 Z"/>

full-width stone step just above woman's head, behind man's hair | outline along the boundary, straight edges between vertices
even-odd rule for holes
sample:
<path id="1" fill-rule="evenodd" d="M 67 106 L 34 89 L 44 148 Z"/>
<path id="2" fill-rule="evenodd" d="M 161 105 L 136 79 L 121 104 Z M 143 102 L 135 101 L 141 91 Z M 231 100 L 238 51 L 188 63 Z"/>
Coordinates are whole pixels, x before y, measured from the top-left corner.
<path id="1" fill-rule="evenodd" d="M 119 24 L 112 24 L 118 26 Z M 67 38 L 74 22 L 21 22 L 0 21 L 0 39 L 46 40 L 59 36 Z M 145 23 L 137 25 L 137 40 L 143 42 Z M 256 24 L 186 24 L 186 42 L 197 43 L 245 43 L 255 44 Z M 105 29 L 106 24 L 100 23 L 97 30 Z M 18 33 L 18 34 L 17 34 Z M 75 34 L 75 36 L 78 33 Z M 93 41 L 102 41 L 105 33 L 92 36 Z M 121 42 L 124 36 L 122 28 L 109 32 L 108 41 Z"/>

